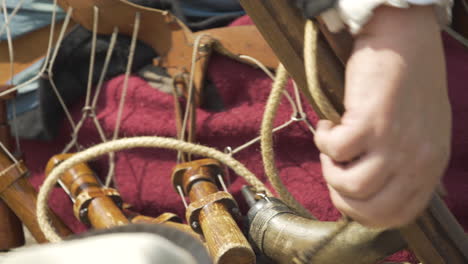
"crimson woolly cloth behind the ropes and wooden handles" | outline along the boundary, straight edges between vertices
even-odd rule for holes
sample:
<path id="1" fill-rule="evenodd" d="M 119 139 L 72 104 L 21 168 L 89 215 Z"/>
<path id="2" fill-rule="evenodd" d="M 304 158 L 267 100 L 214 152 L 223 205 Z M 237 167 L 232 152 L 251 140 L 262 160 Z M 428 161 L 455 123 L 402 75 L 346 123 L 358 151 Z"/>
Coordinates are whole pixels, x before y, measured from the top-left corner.
<path id="1" fill-rule="evenodd" d="M 243 18 L 238 23 L 248 24 L 250 20 Z M 449 192 L 448 206 L 468 230 L 468 50 L 449 38 L 445 39 L 445 46 L 454 129 L 452 161 L 444 183 Z M 219 90 L 225 111 L 197 110 L 198 142 L 223 150 L 227 146 L 234 148 L 258 136 L 271 81 L 257 69 L 218 55 L 211 59 L 208 76 Z M 109 137 L 114 129 L 122 86 L 123 76 L 107 82 L 99 99 L 98 118 Z M 138 77 L 132 77 L 129 81 L 120 137 L 175 137 L 172 100 L 171 95 L 151 88 Z M 82 105 L 80 103 L 74 107 L 75 120 L 78 120 L 81 114 Z M 306 103 L 304 105 L 310 119 L 315 123 L 316 115 Z M 283 100 L 276 124 L 287 121 L 290 114 L 291 108 L 287 101 Z M 54 142 L 23 141 L 26 163 L 31 170 L 31 182 L 35 187 L 44 179 L 43 170 L 48 159 L 59 153 L 69 140 L 70 128 L 65 120 L 62 127 L 62 136 Z M 84 146 L 100 142 L 91 121 L 88 120 L 81 129 L 79 142 Z M 302 123 L 295 123 L 276 133 L 274 142 L 277 167 L 292 194 L 319 219 L 339 218 L 321 175 L 319 153 L 306 127 Z M 265 180 L 259 144 L 235 157 L 260 179 Z M 184 206 L 170 182 L 171 171 L 175 166 L 175 152 L 136 149 L 118 153 L 116 160 L 116 186 L 125 202 L 145 215 L 157 216 L 163 212 L 174 212 L 184 216 Z M 106 175 L 107 157 L 93 162 L 92 166 L 99 175 Z M 245 182 L 233 174 L 230 175 L 230 180 L 229 190 L 245 208 L 239 192 Z M 53 191 L 49 204 L 73 231 L 85 230 L 74 218 L 71 202 L 62 190 L 57 188 Z M 408 255 L 401 253 L 396 260 L 408 259 Z"/>

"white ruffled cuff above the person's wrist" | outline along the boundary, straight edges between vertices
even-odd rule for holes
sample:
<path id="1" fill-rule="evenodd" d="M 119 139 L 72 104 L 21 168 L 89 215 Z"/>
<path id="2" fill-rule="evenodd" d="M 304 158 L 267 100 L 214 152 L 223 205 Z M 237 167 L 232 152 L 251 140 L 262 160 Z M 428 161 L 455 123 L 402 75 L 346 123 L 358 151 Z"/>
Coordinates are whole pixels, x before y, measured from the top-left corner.
<path id="1" fill-rule="evenodd" d="M 348 25 L 351 33 L 358 33 L 380 5 L 408 8 L 410 5 L 436 5 L 439 23 L 443 26 L 452 20 L 453 0 L 339 0 L 335 8 L 322 14 L 322 19 L 332 32 L 338 32 Z"/>

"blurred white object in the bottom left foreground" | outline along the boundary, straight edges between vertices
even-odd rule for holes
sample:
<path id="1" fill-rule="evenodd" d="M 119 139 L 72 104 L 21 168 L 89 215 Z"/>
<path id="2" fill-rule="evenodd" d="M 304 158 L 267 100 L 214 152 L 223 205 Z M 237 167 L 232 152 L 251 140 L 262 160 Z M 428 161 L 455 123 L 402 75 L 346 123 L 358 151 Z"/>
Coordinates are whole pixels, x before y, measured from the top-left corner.
<path id="1" fill-rule="evenodd" d="M 1 264 L 196 264 L 169 240 L 142 233 L 118 233 L 33 246 L 8 253 Z"/>

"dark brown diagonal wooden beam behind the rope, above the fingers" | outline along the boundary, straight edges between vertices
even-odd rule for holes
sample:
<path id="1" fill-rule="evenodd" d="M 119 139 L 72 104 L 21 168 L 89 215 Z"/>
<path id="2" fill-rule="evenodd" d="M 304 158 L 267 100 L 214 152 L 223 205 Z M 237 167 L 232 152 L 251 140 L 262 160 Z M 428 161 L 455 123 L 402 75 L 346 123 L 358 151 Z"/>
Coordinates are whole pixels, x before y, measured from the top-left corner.
<path id="1" fill-rule="evenodd" d="M 289 0 L 240 2 L 314 109 L 318 109 L 307 89 L 303 60 L 305 19 L 299 10 Z M 342 113 L 344 67 L 323 38 L 319 39 L 317 50 L 321 85 L 333 106 Z"/>

